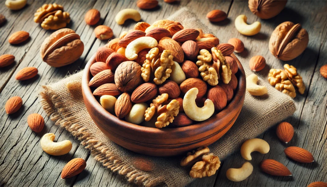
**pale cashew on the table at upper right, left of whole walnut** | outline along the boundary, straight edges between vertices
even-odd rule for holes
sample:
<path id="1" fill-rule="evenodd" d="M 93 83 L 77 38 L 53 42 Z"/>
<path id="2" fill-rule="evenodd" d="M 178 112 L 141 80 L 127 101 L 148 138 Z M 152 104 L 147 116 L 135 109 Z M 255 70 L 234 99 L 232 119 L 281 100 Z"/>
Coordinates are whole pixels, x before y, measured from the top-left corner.
<path id="1" fill-rule="evenodd" d="M 241 34 L 244 34 L 246 36 L 253 36 L 255 34 L 258 34 L 261 29 L 261 23 L 256 21 L 252 23 L 251 25 L 248 25 L 246 23 L 247 17 L 245 15 L 239 15 L 235 19 L 235 27 Z"/>

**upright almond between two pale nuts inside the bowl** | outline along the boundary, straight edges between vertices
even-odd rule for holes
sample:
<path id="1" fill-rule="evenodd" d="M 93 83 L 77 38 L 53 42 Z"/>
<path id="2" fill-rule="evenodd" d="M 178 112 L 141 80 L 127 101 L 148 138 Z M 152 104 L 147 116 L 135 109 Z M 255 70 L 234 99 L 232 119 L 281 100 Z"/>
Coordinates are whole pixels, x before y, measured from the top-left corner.
<path id="1" fill-rule="evenodd" d="M 117 118 L 124 118 L 132 108 L 132 102 L 130 100 L 130 95 L 128 93 L 123 93 L 117 98 L 115 103 L 115 114 Z"/>

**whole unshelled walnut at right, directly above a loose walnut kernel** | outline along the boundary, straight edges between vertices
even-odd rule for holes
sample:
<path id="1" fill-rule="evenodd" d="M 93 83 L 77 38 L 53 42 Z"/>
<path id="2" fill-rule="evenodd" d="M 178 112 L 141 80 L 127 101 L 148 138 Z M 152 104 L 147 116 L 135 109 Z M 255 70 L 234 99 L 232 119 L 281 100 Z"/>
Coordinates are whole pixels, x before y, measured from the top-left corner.
<path id="1" fill-rule="evenodd" d="M 281 23 L 272 32 L 269 50 L 278 59 L 288 61 L 299 56 L 309 43 L 309 35 L 300 24 Z"/>

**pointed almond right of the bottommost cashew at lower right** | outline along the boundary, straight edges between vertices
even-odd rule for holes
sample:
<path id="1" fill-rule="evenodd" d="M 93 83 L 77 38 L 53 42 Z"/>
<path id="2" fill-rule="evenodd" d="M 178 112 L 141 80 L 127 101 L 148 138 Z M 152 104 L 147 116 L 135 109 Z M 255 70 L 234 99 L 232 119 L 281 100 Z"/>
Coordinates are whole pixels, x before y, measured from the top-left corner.
<path id="1" fill-rule="evenodd" d="M 292 173 L 282 163 L 266 159 L 261 161 L 260 168 L 263 172 L 273 176 L 292 176 Z"/>

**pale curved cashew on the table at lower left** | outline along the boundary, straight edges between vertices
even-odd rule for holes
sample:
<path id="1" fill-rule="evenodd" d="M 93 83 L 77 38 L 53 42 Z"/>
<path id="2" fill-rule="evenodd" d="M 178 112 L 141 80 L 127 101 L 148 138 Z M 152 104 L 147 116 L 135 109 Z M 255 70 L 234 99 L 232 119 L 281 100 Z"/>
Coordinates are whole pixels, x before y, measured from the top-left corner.
<path id="1" fill-rule="evenodd" d="M 52 133 L 46 133 L 45 135 L 43 135 L 41 139 L 41 147 L 43 151 L 49 155 L 55 155 L 55 156 L 69 153 L 69 151 L 73 147 L 72 142 L 70 142 L 69 140 L 53 142 L 55 137 L 56 136 Z"/>

